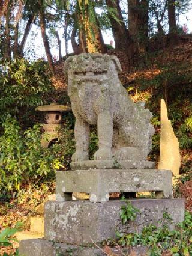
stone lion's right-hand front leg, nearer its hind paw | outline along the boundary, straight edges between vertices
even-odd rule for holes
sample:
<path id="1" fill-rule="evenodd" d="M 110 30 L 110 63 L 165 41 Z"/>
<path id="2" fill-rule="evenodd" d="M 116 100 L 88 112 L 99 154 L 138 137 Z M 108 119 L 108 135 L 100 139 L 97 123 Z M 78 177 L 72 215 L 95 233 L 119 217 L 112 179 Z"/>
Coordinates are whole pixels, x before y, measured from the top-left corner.
<path id="1" fill-rule="evenodd" d="M 98 114 L 98 147 L 94 154 L 95 160 L 112 159 L 112 137 L 113 137 L 113 120 L 110 112 Z"/>

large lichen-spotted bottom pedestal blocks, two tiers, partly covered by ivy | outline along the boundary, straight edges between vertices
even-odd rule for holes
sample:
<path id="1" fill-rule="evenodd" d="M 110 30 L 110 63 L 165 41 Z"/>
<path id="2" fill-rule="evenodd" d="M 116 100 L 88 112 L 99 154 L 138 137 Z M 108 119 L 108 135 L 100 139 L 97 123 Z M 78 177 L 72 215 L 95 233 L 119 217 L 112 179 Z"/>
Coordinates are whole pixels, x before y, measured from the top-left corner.
<path id="1" fill-rule="evenodd" d="M 105 255 L 94 248 L 93 241 L 100 245 L 105 239 L 114 239 L 116 230 L 140 232 L 144 225 L 150 223 L 162 225 L 164 212 L 172 216 L 171 229 L 184 219 L 182 199 L 136 199 L 131 200 L 131 204 L 139 209 L 136 220 L 122 226 L 119 212 L 123 204 L 125 202 L 119 200 L 95 204 L 89 201 L 49 201 L 45 206 L 45 238 L 23 240 L 20 242 L 20 254 Z M 136 248 L 136 255 L 142 255 L 143 250 Z"/>

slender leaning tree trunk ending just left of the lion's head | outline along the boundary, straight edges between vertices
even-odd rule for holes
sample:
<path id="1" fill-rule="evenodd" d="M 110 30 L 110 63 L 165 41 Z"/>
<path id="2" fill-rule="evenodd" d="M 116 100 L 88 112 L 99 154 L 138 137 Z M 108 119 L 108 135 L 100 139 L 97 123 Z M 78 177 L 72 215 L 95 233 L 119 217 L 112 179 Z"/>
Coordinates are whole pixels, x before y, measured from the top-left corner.
<path id="1" fill-rule="evenodd" d="M 44 49 L 46 50 L 46 56 L 49 62 L 50 70 L 52 71 L 53 75 L 55 75 L 55 67 L 53 64 L 52 54 L 50 52 L 49 39 L 46 34 L 46 19 L 44 15 L 43 0 L 39 0 L 38 4 L 39 4 L 39 14 L 40 14 L 40 28 L 41 28 L 41 35 L 44 43 Z"/>

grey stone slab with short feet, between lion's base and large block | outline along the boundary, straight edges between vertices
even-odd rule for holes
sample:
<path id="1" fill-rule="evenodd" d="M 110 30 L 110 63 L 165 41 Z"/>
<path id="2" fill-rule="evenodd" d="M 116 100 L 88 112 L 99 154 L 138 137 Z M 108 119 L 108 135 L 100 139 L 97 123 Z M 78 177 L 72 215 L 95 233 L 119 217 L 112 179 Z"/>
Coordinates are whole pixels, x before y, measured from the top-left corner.
<path id="1" fill-rule="evenodd" d="M 90 194 L 90 201 L 105 202 L 110 192 L 155 191 L 172 198 L 172 172 L 152 169 L 89 169 L 56 172 L 56 200 L 72 200 L 72 192 Z"/>

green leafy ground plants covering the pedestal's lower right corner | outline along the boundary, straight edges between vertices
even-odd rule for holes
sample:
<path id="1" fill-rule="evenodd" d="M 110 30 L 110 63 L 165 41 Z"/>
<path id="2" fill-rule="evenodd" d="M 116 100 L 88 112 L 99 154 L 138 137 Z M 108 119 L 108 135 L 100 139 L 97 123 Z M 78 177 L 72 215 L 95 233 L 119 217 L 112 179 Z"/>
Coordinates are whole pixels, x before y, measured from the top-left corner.
<path id="1" fill-rule="evenodd" d="M 123 221 L 123 219 L 122 219 Z M 184 222 L 177 225 L 175 230 L 170 230 L 168 225 L 171 221 L 167 213 L 163 214 L 162 227 L 150 224 L 143 228 L 141 233 L 124 234 L 116 233 L 120 246 L 148 246 L 149 255 L 162 255 L 169 252 L 171 255 L 192 255 L 192 215 L 185 212 Z"/>

